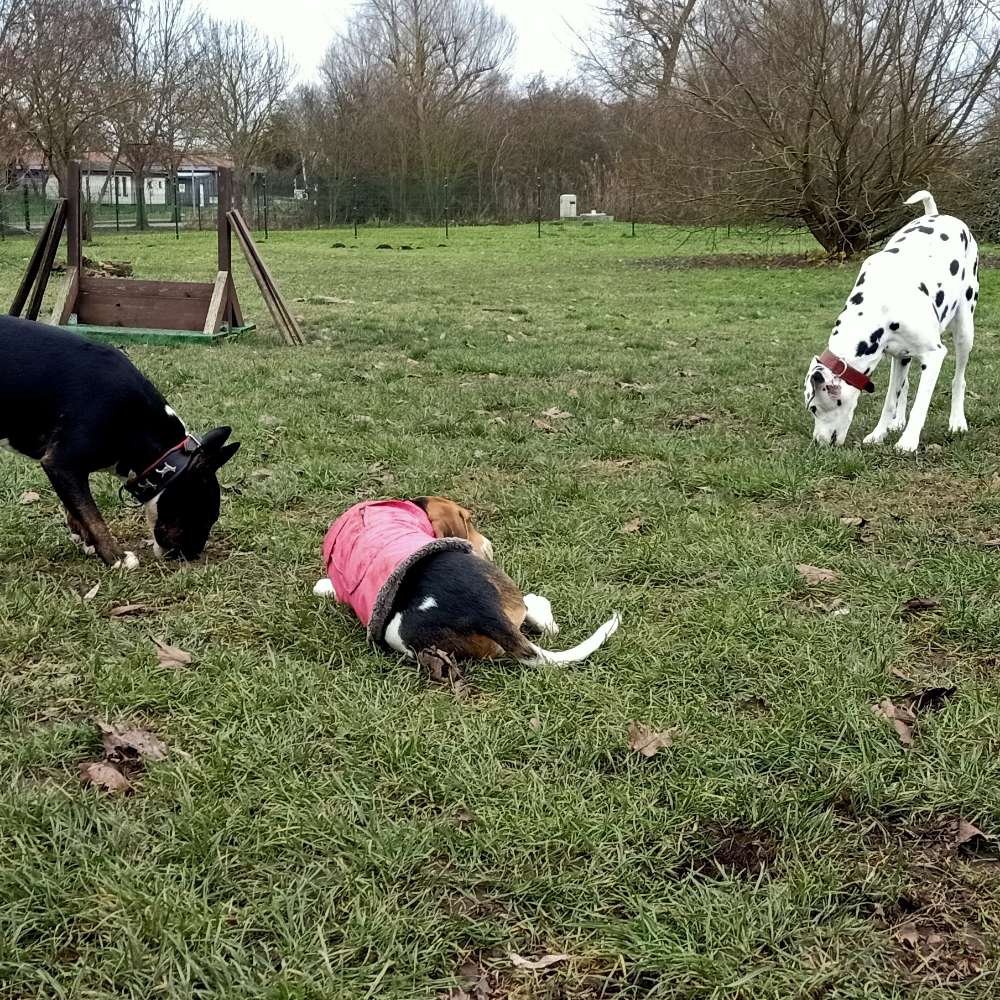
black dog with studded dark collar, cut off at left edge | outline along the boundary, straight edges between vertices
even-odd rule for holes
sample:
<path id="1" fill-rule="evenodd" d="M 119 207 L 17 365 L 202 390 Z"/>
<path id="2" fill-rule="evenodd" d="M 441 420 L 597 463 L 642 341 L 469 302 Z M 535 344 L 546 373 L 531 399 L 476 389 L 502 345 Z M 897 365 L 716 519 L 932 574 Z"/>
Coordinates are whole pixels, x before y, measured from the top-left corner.
<path id="1" fill-rule="evenodd" d="M 70 532 L 109 566 L 132 569 L 90 493 L 111 469 L 145 506 L 157 555 L 197 559 L 219 518 L 216 471 L 239 448 L 230 428 L 200 440 L 114 347 L 28 320 L 0 317 L 0 444 L 41 462 Z"/>

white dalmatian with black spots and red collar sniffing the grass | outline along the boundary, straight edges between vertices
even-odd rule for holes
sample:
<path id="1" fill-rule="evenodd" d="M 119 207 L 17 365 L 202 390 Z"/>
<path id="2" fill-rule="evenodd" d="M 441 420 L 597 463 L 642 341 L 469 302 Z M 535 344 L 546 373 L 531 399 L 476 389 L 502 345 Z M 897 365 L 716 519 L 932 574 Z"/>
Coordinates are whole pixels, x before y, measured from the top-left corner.
<path id="1" fill-rule="evenodd" d="M 918 202 L 923 202 L 924 214 L 862 264 L 827 350 L 809 365 L 805 403 L 815 418 L 815 441 L 844 443 L 861 393 L 875 391 L 870 376 L 888 354 L 891 367 L 882 414 L 864 443 L 879 444 L 890 431 L 902 431 L 897 450 L 916 451 L 948 353 L 943 340 L 947 329 L 955 342 L 949 429 L 953 434 L 968 430 L 965 368 L 979 302 L 978 248 L 960 219 L 938 214 L 929 192 L 918 191 L 906 203 Z M 920 365 L 920 383 L 907 420 L 914 361 Z"/>

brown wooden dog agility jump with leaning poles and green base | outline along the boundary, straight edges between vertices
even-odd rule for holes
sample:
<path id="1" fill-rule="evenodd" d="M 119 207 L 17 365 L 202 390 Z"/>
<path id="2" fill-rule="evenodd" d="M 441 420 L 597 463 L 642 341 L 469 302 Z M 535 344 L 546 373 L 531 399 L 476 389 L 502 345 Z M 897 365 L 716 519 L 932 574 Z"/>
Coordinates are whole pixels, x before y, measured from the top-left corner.
<path id="1" fill-rule="evenodd" d="M 71 163 L 66 197 L 56 202 L 28 262 L 10 315 L 37 319 L 66 229 L 66 273 L 49 317 L 84 336 L 152 343 L 214 343 L 253 329 L 243 319 L 232 273 L 232 234 L 257 282 L 264 302 L 287 344 L 304 343 L 295 317 L 288 311 L 270 271 L 261 259 L 243 216 L 233 208 L 233 177 L 219 170 L 218 271 L 212 282 L 148 281 L 86 274 L 82 253 L 80 164 Z M 30 301 L 29 301 L 30 296 Z"/>

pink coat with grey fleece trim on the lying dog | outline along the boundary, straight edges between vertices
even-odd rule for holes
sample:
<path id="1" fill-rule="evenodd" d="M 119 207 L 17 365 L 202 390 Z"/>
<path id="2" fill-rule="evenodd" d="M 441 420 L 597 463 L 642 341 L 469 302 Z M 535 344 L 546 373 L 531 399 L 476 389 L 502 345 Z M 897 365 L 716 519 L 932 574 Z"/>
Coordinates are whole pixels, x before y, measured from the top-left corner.
<path id="1" fill-rule="evenodd" d="M 427 515 L 409 500 L 355 504 L 330 525 L 323 565 L 337 600 L 382 643 L 392 604 L 406 574 L 422 559 L 448 549 L 471 552 L 461 538 L 435 538 Z"/>

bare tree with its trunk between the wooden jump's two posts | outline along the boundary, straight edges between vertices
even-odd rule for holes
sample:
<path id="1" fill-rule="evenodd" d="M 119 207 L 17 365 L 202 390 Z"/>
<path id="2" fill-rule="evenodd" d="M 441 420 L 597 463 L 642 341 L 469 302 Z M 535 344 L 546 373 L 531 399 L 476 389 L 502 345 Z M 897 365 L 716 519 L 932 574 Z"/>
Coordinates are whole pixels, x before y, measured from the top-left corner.
<path id="1" fill-rule="evenodd" d="M 125 11 L 122 32 L 121 88 L 133 96 L 111 115 L 111 134 L 115 159 L 132 170 L 136 224 L 145 229 L 146 173 L 154 162 L 175 166 L 201 114 L 201 14 L 185 0 L 147 0 Z"/>

